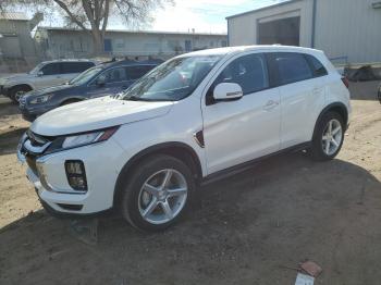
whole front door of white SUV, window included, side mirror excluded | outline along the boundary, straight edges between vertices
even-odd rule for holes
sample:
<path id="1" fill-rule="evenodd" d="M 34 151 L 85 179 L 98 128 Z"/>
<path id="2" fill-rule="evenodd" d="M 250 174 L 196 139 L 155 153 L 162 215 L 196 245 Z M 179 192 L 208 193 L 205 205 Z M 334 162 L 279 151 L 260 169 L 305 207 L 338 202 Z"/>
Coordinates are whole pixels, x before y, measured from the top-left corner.
<path id="1" fill-rule="evenodd" d="M 213 102 L 219 83 L 236 83 L 244 97 Z M 270 88 L 266 59 L 260 53 L 230 61 L 214 79 L 202 103 L 208 174 L 280 149 L 280 92 Z"/>

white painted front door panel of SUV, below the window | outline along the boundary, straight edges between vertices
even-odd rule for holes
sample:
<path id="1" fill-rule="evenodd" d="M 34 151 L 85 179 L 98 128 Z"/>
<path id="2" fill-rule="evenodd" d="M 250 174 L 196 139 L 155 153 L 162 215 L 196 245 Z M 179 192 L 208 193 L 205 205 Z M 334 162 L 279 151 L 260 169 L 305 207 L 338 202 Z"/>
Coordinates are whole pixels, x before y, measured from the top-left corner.
<path id="1" fill-rule="evenodd" d="M 272 88 L 205 107 L 209 174 L 279 150 L 279 89 Z"/>

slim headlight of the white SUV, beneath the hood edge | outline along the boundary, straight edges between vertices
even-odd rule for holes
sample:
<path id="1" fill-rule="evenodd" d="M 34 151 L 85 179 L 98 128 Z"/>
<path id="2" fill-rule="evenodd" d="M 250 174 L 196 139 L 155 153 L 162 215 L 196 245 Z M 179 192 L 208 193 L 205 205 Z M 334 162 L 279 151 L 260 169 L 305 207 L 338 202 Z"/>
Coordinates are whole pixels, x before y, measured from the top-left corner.
<path id="1" fill-rule="evenodd" d="M 52 141 L 47 152 L 56 152 L 59 150 L 77 148 L 95 142 L 108 140 L 119 128 L 119 126 L 83 133 L 73 136 L 59 137 Z"/>

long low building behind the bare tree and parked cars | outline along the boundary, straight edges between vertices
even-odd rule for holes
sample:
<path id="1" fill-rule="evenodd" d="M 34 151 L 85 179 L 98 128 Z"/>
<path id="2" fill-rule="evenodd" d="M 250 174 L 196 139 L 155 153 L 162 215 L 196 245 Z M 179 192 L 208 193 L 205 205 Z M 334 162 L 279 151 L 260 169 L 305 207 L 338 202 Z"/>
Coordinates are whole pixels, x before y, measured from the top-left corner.
<path id="1" fill-rule="evenodd" d="M 82 29 L 41 27 L 35 40 L 45 58 L 88 58 L 93 39 Z M 198 49 L 225 47 L 226 34 L 176 33 L 153 30 L 113 30 L 105 35 L 105 54 L 123 57 L 155 55 L 169 58 Z"/>

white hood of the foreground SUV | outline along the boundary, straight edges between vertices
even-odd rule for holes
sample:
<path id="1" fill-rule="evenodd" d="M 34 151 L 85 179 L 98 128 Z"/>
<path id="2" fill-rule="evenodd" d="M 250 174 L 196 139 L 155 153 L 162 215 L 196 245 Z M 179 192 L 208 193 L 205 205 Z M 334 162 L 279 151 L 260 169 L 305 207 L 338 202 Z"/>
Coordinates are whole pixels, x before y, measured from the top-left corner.
<path id="1" fill-rule="evenodd" d="M 167 114 L 173 102 L 125 101 L 102 97 L 57 108 L 37 117 L 32 132 L 61 136 L 122 125 Z"/>

